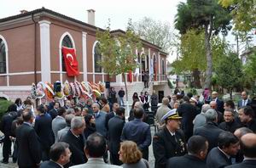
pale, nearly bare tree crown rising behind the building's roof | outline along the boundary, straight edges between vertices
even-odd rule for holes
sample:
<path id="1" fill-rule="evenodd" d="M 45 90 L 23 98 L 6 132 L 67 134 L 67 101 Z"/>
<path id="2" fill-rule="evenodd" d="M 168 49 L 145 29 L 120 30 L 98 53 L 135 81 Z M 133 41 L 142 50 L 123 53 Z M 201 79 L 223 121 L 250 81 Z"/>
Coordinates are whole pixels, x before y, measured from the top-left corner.
<path id="1" fill-rule="evenodd" d="M 171 25 L 168 23 L 144 17 L 143 20 L 134 22 L 133 26 L 141 38 L 159 46 L 166 53 L 169 53 L 172 50 L 172 46 L 176 43 L 175 35 Z"/>

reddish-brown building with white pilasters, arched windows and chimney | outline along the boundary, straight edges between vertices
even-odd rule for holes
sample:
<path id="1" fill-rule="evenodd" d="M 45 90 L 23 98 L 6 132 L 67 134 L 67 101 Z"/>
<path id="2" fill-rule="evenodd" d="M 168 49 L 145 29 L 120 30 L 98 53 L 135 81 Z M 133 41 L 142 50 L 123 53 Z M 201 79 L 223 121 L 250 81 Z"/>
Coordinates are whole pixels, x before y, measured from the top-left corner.
<path id="1" fill-rule="evenodd" d="M 24 99 L 30 94 L 32 82 L 38 81 L 110 81 L 116 91 L 124 87 L 125 79 L 121 76 L 110 78 L 96 64 L 101 59 L 101 55 L 96 52 L 96 31 L 102 29 L 94 25 L 94 13 L 94 10 L 88 10 L 89 23 L 47 8 L 21 11 L 21 14 L 0 19 L 0 97 Z M 122 34 L 125 31 L 116 30 L 112 33 Z M 129 98 L 133 92 L 143 91 L 142 70 L 149 69 L 150 61 L 153 62 L 154 77 L 149 81 L 148 91 L 154 89 L 160 95 L 167 95 L 167 53 L 150 42 L 142 42 L 143 48 L 137 51 L 140 74 L 128 82 Z M 67 76 L 62 46 L 75 48 L 79 76 Z M 145 58 L 140 57 L 142 54 L 146 55 Z"/>

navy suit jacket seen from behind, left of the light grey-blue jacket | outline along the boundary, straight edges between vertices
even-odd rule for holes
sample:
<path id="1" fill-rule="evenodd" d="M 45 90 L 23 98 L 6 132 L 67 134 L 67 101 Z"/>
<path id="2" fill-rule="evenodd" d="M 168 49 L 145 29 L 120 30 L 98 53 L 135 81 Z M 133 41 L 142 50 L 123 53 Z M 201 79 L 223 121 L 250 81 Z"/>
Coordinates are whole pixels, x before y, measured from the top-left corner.
<path id="1" fill-rule="evenodd" d="M 42 149 L 49 150 L 55 143 L 55 137 L 51 128 L 51 117 L 48 114 L 38 115 L 35 120 L 35 131 L 38 134 Z"/>

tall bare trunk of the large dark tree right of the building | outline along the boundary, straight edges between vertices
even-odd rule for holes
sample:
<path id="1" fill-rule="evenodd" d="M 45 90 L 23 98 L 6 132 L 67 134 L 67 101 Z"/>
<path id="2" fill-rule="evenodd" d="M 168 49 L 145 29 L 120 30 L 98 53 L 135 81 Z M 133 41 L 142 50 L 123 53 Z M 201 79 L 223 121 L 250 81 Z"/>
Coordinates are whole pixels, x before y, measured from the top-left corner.
<path id="1" fill-rule="evenodd" d="M 211 29 L 211 28 L 210 28 Z M 207 77 L 205 82 L 205 88 L 211 88 L 211 78 L 212 78 L 212 50 L 211 50 L 211 34 L 212 31 L 208 32 L 208 26 L 205 26 L 205 46 L 207 53 Z"/>

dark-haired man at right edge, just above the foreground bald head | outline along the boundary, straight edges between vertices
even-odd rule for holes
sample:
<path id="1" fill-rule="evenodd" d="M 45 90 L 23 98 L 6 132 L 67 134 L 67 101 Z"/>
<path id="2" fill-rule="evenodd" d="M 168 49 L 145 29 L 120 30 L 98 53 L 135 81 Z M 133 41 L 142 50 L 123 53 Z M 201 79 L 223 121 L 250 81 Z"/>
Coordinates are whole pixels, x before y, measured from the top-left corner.
<path id="1" fill-rule="evenodd" d="M 238 110 L 238 116 L 241 123 L 245 124 L 247 128 L 256 133 L 256 119 L 254 118 L 253 109 L 250 106 L 241 107 Z"/>

